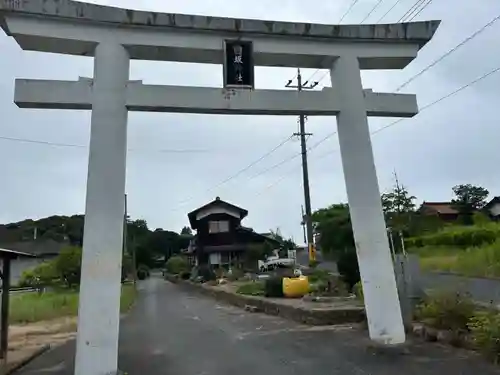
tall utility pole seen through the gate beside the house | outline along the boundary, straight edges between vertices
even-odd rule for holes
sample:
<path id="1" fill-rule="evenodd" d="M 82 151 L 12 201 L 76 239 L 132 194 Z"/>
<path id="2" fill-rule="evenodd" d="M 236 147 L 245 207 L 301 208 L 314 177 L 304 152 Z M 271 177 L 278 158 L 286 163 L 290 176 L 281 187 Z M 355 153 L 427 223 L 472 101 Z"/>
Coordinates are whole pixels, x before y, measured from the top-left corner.
<path id="1" fill-rule="evenodd" d="M 300 69 L 297 70 L 297 85 L 292 85 L 292 80 L 288 81 L 285 87 L 296 88 L 298 91 L 311 90 L 318 85 L 318 82 L 313 82 L 309 84 L 308 81 L 302 83 L 302 75 L 300 74 Z M 312 227 L 312 212 L 311 212 L 311 194 L 309 190 L 309 169 L 307 166 L 307 146 L 306 146 L 306 136 L 312 135 L 311 133 L 306 133 L 306 116 L 301 114 L 299 116 L 299 133 L 294 133 L 294 135 L 300 137 L 300 148 L 302 153 L 302 176 L 304 182 L 304 204 L 305 204 L 305 215 L 304 221 L 306 223 L 307 232 L 307 249 L 309 251 L 309 261 L 316 260 L 316 249 L 314 248 L 313 239 L 313 227 Z"/>

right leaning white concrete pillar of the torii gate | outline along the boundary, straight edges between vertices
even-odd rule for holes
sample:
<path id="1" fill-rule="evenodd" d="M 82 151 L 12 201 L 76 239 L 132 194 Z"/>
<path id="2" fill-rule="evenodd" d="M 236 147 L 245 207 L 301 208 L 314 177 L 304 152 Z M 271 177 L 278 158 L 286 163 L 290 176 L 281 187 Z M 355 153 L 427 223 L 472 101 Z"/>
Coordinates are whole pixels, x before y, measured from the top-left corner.
<path id="1" fill-rule="evenodd" d="M 405 342 L 405 331 L 358 59 L 339 57 L 330 75 L 332 88 L 341 93 L 338 135 L 370 338 L 386 345 L 401 344 Z"/>

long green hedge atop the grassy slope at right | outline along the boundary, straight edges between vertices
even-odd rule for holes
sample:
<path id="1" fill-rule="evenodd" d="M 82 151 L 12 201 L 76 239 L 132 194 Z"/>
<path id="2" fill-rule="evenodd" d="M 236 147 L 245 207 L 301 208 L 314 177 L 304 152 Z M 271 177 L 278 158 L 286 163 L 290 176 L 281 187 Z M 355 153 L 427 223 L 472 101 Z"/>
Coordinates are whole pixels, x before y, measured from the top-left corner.
<path id="1" fill-rule="evenodd" d="M 500 225 L 452 227 L 437 233 L 405 240 L 407 247 L 453 246 L 459 248 L 491 244 L 500 238 Z"/>

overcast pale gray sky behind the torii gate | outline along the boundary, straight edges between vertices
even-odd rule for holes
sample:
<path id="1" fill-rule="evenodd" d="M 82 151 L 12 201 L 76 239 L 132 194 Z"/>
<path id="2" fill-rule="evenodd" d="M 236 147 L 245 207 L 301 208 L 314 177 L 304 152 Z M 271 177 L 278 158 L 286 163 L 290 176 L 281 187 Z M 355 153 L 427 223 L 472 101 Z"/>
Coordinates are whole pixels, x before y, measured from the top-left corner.
<path id="1" fill-rule="evenodd" d="M 351 0 L 94 0 L 126 8 L 335 24 Z M 359 23 L 378 0 L 360 0 L 343 23 Z M 376 22 L 396 2 L 383 0 L 366 23 Z M 401 0 L 384 22 L 396 22 L 415 0 Z M 496 0 L 434 0 L 415 20 L 442 20 L 434 39 L 403 71 L 363 74 L 364 85 L 393 91 L 399 84 L 500 14 Z M 500 67 L 500 21 L 420 76 L 402 92 L 418 95 L 420 106 Z M 23 52 L 0 35 L 0 137 L 81 145 L 56 147 L 0 139 L 0 222 L 83 213 L 87 177 L 90 113 L 26 110 L 13 104 L 15 78 L 66 79 L 92 76 L 85 57 Z M 314 70 L 305 70 L 307 78 Z M 317 72 L 314 79 L 324 77 Z M 282 88 L 293 69 L 257 68 L 257 88 Z M 132 62 L 131 79 L 147 83 L 221 86 L 222 67 Z M 325 76 L 320 87 L 329 85 Z M 381 190 L 393 184 L 393 172 L 419 201 L 451 199 L 460 183 L 483 185 L 500 195 L 500 72 L 373 137 Z M 371 130 L 394 119 L 370 119 Z M 313 145 L 336 130 L 334 118 L 311 117 Z M 249 210 L 245 224 L 258 231 L 280 227 L 301 241 L 303 202 L 300 158 L 252 176 L 300 151 L 290 141 L 255 167 L 217 189 L 207 191 L 259 158 L 297 131 L 293 117 L 144 114 L 129 116 L 127 193 L 133 218 L 151 228 L 179 231 L 187 212 L 216 195 Z M 172 152 L 172 151 L 184 152 Z M 333 136 L 309 154 L 313 209 L 346 201 L 343 172 Z M 324 156 L 326 155 L 326 156 Z M 278 182 L 277 182 L 278 181 Z"/>

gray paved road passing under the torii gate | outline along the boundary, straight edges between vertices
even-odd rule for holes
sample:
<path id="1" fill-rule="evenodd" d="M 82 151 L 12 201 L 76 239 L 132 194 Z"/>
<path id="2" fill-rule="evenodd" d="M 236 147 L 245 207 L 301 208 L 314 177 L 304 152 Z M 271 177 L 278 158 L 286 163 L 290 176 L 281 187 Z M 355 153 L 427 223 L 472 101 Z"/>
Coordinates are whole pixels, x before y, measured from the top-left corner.
<path id="1" fill-rule="evenodd" d="M 122 321 L 120 367 L 129 375 L 492 375 L 476 355 L 437 344 L 380 353 L 367 333 L 311 328 L 191 295 L 160 278 L 140 284 Z M 21 375 L 72 375 L 74 344 L 32 362 Z"/>

